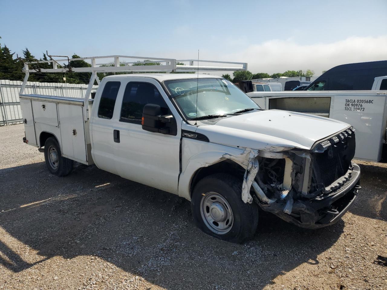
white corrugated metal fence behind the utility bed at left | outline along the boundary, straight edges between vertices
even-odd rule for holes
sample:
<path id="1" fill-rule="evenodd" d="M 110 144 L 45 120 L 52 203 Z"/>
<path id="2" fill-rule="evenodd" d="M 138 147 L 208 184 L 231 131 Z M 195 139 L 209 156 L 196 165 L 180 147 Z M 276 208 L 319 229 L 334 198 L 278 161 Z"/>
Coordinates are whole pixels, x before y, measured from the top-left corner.
<path id="1" fill-rule="evenodd" d="M 19 101 L 19 91 L 22 81 L 0 80 L 0 126 L 23 122 Z M 98 85 L 93 85 L 96 90 Z M 82 98 L 87 89 L 86 84 L 62 84 L 27 82 L 24 94 L 38 94 L 46 96 L 62 96 Z"/>

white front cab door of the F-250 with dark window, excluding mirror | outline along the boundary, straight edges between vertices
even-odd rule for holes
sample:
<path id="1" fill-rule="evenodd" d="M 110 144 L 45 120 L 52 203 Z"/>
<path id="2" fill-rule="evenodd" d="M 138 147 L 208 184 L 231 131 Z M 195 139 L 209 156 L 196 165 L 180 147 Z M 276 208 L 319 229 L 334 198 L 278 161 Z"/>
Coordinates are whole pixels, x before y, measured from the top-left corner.
<path id="1" fill-rule="evenodd" d="M 182 123 L 180 115 L 158 81 L 130 77 L 130 81 L 122 85 L 123 94 L 117 99 L 119 116 L 114 128 L 118 174 L 123 178 L 177 194 Z M 172 115 L 174 130 L 167 134 L 143 130 L 142 111 L 146 104 L 159 105 Z"/>

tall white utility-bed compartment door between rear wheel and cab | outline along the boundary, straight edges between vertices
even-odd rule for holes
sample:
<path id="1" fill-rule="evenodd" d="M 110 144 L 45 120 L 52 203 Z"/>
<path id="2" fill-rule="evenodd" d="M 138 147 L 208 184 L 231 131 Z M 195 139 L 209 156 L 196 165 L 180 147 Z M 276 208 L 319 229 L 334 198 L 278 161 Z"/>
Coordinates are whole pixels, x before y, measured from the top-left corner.
<path id="1" fill-rule="evenodd" d="M 82 106 L 58 104 L 62 155 L 86 162 L 86 140 Z"/>

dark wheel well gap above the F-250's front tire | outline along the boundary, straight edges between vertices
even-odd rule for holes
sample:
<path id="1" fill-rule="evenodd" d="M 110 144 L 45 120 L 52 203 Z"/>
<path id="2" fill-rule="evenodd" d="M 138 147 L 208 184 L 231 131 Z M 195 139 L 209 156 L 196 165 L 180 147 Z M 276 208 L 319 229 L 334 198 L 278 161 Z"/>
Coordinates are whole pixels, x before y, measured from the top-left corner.
<path id="1" fill-rule="evenodd" d="M 199 168 L 195 172 L 194 177 L 192 177 L 192 180 L 191 180 L 190 196 L 192 196 L 192 192 L 195 188 L 195 185 L 199 182 L 200 179 L 202 179 L 205 176 L 209 176 L 211 174 L 221 173 L 221 172 L 231 174 L 238 178 L 239 177 L 243 178 L 243 175 L 245 174 L 245 169 L 238 163 L 229 159 L 223 160 L 216 164 L 212 164 L 208 167 Z"/>

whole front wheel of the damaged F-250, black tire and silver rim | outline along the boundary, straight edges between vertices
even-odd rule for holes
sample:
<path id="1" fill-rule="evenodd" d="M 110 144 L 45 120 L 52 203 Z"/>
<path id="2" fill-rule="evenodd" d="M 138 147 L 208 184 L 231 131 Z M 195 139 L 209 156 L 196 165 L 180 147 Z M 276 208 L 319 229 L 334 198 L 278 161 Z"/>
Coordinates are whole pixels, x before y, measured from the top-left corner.
<path id="1" fill-rule="evenodd" d="M 203 232 L 218 239 L 243 243 L 255 234 L 258 206 L 241 199 L 242 180 L 224 173 L 200 180 L 192 193 L 194 221 Z"/>

